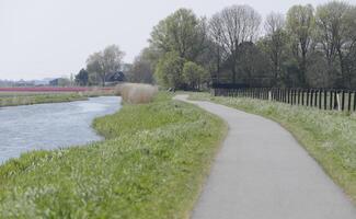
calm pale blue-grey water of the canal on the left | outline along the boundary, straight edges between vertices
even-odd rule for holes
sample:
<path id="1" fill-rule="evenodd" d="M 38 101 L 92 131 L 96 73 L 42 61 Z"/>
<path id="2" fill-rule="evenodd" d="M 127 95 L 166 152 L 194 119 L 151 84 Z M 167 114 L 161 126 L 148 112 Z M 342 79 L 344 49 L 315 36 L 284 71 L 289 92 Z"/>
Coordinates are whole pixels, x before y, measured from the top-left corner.
<path id="1" fill-rule="evenodd" d="M 120 97 L 0 107 L 0 163 L 30 150 L 84 145 L 102 138 L 91 128 L 95 117 L 113 114 Z"/>

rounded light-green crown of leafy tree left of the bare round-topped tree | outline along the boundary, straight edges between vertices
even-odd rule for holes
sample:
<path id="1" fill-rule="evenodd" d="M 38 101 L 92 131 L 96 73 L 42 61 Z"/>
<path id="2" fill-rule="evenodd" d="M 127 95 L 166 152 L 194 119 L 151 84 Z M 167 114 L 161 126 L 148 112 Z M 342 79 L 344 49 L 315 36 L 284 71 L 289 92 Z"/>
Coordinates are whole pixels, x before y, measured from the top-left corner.
<path id="1" fill-rule="evenodd" d="M 194 61 L 204 51 L 205 41 L 205 20 L 197 19 L 192 10 L 180 9 L 153 27 L 149 42 L 163 54 L 176 51 Z"/>

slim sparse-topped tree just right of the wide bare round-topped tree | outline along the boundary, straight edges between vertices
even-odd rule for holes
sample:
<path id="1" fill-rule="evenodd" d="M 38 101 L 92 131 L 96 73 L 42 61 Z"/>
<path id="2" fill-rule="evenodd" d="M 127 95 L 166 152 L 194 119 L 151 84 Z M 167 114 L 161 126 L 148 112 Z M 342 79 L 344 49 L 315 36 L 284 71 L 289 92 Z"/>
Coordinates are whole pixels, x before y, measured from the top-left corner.
<path id="1" fill-rule="evenodd" d="M 267 55 L 274 82 L 276 87 L 284 85 L 285 72 L 283 71 L 283 62 L 286 55 L 287 33 L 285 32 L 285 19 L 279 13 L 269 13 L 265 21 L 265 37 L 261 41 L 260 47 Z"/>

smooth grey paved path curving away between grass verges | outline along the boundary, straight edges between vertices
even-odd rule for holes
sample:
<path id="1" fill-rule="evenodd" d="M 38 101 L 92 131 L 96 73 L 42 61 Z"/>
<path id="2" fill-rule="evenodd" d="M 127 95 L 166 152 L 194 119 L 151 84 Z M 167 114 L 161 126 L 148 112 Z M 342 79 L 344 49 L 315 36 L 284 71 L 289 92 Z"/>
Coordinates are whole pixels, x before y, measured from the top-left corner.
<path id="1" fill-rule="evenodd" d="M 210 102 L 191 103 L 229 125 L 193 219 L 356 219 L 341 188 L 278 124 Z"/>

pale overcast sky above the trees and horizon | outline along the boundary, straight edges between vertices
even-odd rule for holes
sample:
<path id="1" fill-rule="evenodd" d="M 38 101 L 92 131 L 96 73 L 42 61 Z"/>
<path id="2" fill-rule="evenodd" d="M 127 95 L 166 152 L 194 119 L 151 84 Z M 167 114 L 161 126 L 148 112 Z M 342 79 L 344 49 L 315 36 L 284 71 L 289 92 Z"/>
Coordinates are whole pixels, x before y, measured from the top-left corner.
<path id="1" fill-rule="evenodd" d="M 152 26 L 180 8 L 211 15 L 250 4 L 263 16 L 328 0 L 0 0 L 0 79 L 77 73 L 87 57 L 117 44 L 125 61 L 147 46 Z M 356 3 L 356 0 L 348 0 Z"/>

